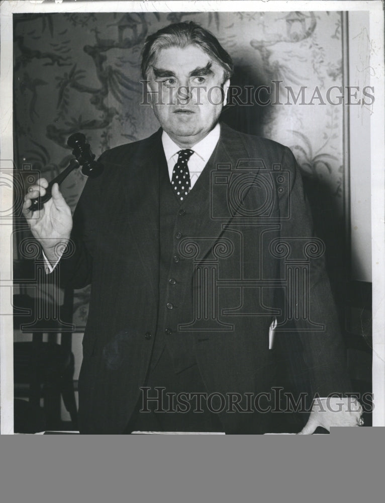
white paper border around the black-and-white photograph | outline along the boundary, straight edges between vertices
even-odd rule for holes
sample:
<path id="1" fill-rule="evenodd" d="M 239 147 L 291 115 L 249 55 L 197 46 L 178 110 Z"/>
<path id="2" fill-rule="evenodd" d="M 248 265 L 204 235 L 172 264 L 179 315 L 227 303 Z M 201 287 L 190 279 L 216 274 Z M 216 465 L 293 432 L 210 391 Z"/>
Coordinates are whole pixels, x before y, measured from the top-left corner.
<path id="1" fill-rule="evenodd" d="M 65 12 L 290 12 L 290 11 L 369 11 L 369 33 L 372 42 L 370 85 L 376 90 L 372 107 L 371 152 L 371 242 L 372 242 L 372 313 L 373 313 L 373 427 L 385 426 L 385 102 L 384 102 L 384 22 L 380 0 L 365 2 L 331 0 L 275 0 L 263 1 L 153 1 L 153 2 L 41 2 L 5 1 L 1 3 L 0 99 L 1 135 L 0 170 L 7 169 L 13 159 L 13 14 Z M 12 162 L 11 162 L 12 163 Z M 9 184 L 0 184 L 0 215 L 12 207 L 12 177 Z M 12 306 L 12 250 L 4 249 L 10 242 L 12 222 L 0 228 L 0 426 L 2 435 L 13 435 L 13 306 Z"/>

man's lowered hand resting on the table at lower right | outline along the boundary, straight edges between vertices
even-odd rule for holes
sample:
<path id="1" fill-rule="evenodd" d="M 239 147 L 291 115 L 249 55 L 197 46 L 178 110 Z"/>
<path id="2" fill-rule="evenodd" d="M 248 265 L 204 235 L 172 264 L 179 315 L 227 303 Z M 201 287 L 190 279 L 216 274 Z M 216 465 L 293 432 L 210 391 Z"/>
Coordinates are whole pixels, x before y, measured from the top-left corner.
<path id="1" fill-rule="evenodd" d="M 309 421 L 298 435 L 311 435 L 318 426 L 330 432 L 331 426 L 361 426 L 362 406 L 355 397 L 314 400 Z"/>

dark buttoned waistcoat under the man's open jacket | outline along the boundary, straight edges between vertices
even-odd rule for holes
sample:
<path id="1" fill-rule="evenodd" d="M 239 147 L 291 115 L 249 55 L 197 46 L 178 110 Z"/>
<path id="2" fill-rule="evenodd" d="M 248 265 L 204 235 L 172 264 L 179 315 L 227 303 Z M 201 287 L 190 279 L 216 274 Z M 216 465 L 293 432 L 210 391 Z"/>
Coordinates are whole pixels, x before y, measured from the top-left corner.
<path id="1" fill-rule="evenodd" d="M 178 201 L 170 183 L 167 163 L 159 166 L 159 304 L 158 322 L 150 367 L 166 348 L 174 371 L 196 363 L 194 334 L 180 330 L 194 318 L 194 261 L 183 254 L 183 242 L 199 236 L 209 198 L 214 150 L 194 187 Z M 206 215 L 207 218 L 207 215 Z"/>

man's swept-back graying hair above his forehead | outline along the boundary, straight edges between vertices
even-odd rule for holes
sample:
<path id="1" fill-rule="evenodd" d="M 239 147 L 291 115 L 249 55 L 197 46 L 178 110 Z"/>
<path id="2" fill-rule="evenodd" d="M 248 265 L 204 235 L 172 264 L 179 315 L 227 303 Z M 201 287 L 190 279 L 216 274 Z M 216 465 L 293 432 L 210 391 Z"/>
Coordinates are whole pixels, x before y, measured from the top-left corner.
<path id="1" fill-rule="evenodd" d="M 141 70 L 147 78 L 149 66 L 156 60 L 161 49 L 196 45 L 216 61 L 224 71 L 224 81 L 233 73 L 233 61 L 216 37 L 193 21 L 174 23 L 149 35 L 142 49 Z"/>

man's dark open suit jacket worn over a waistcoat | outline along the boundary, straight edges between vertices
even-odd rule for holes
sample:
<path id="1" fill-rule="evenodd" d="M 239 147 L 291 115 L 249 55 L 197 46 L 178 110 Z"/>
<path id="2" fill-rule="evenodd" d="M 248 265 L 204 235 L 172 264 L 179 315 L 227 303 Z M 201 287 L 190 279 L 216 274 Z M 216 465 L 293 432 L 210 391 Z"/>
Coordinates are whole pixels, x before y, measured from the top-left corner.
<path id="1" fill-rule="evenodd" d="M 72 246 L 59 266 L 62 284 L 91 283 L 79 377 L 80 432 L 119 434 L 144 385 L 157 324 L 161 130 L 106 151 L 101 161 L 104 172 L 87 180 L 74 214 Z M 221 124 L 211 161 L 186 204 L 198 190 L 204 197 L 180 253 L 188 260 L 190 239 L 199 247 L 189 256 L 194 270 L 216 269 L 222 282 L 216 290 L 219 314 L 214 329 L 194 323 L 197 284 L 191 278 L 183 295 L 188 316 L 180 323 L 194 339 L 207 391 L 270 389 L 273 317 L 278 340 L 284 329 L 295 327 L 312 391 L 320 396 L 346 391 L 322 243 L 312 241 L 310 210 L 292 152 Z M 308 292 L 303 308 L 295 285 Z"/>

